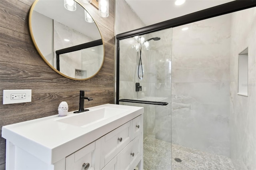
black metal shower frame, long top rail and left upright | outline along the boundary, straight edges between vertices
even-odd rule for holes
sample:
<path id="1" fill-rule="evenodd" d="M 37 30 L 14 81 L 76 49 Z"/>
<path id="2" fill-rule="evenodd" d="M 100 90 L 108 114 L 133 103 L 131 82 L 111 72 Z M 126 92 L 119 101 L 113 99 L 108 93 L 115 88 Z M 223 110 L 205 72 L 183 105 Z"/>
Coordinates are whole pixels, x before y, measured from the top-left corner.
<path id="1" fill-rule="evenodd" d="M 255 6 L 256 6 L 256 0 L 235 0 L 232 2 L 228 2 L 226 4 L 214 6 L 212 8 L 208 8 L 205 10 L 201 10 L 198 12 L 180 16 L 178 18 L 174 18 L 174 19 L 160 22 L 157 24 L 153 24 L 150 26 L 142 27 L 142 28 L 132 30 L 129 32 L 124 32 L 122 34 L 117 34 L 116 35 L 116 104 L 119 104 L 119 71 L 120 71 L 119 41 L 120 40 L 125 39 L 125 38 L 130 38 L 133 36 L 139 36 L 142 34 L 149 34 L 152 32 L 165 30 L 168 28 L 174 28 L 174 27 L 181 26 L 184 24 L 189 24 L 192 22 L 205 20 L 208 18 L 213 18 L 216 16 L 224 15 L 224 14 L 229 14 L 232 12 L 245 10 L 248 8 L 253 8 Z M 138 101 L 136 103 L 140 103 L 140 102 Z M 150 103 L 148 103 L 148 104 L 150 104 Z"/>

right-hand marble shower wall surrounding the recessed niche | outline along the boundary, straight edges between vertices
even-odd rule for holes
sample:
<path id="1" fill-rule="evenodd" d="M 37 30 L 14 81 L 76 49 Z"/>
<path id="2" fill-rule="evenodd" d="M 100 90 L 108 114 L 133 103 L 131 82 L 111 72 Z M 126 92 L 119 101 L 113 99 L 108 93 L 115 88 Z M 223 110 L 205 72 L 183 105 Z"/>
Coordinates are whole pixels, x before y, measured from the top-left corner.
<path id="1" fill-rule="evenodd" d="M 256 7 L 232 14 L 230 158 L 236 169 L 256 169 Z M 238 93 L 238 54 L 248 47 L 248 97 Z"/>

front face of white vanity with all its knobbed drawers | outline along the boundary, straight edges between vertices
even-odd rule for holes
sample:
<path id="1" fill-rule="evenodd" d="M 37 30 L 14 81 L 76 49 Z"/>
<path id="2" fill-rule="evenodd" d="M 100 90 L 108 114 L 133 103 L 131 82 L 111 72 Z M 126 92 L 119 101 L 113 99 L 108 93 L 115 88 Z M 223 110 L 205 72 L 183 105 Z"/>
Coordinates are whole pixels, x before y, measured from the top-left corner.
<path id="1" fill-rule="evenodd" d="M 143 151 L 140 119 L 142 116 L 132 119 L 67 156 L 66 170 L 80 170 L 84 166 L 88 170 L 134 170 Z"/>

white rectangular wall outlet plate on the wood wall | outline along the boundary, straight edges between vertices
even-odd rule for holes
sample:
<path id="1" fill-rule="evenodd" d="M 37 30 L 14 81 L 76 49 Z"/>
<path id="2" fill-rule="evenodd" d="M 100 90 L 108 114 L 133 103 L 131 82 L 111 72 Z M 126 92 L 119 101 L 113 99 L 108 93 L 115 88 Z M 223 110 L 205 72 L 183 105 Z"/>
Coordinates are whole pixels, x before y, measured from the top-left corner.
<path id="1" fill-rule="evenodd" d="M 3 105 L 12 103 L 26 103 L 31 102 L 31 90 L 4 90 L 3 91 Z"/>

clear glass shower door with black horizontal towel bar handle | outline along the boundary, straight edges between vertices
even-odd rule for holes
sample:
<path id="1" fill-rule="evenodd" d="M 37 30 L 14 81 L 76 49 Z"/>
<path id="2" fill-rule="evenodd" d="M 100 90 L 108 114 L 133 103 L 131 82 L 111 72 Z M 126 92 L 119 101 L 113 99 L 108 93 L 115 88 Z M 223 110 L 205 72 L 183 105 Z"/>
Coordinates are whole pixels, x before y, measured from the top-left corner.
<path id="1" fill-rule="evenodd" d="M 120 40 L 119 47 L 119 99 L 127 99 L 119 104 L 144 107 L 144 170 L 170 170 L 172 29 Z"/>

